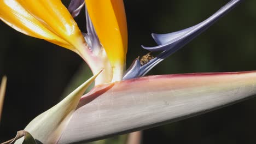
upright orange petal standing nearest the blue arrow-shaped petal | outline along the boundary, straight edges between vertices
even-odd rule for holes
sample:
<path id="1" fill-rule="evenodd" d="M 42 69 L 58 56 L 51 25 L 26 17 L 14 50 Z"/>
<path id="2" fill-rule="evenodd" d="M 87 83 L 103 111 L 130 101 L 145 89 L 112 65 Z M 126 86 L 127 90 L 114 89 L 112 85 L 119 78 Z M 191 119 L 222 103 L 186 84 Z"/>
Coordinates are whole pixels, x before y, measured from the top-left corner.
<path id="1" fill-rule="evenodd" d="M 113 67 L 113 76 L 120 79 L 127 52 L 127 25 L 123 0 L 85 0 L 85 4 Z"/>

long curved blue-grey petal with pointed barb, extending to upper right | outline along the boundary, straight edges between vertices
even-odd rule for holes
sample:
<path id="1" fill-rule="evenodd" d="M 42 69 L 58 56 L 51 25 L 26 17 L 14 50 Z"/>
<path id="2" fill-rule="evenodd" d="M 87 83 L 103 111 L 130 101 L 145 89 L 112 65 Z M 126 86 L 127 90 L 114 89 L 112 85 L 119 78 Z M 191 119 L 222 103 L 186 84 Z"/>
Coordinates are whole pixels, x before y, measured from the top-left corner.
<path id="1" fill-rule="evenodd" d="M 206 19 L 205 21 L 187 28 L 182 31 L 168 33 L 168 34 L 153 34 L 153 38 L 156 43 L 160 44 L 155 47 L 144 47 L 144 49 L 149 51 L 162 51 L 157 57 L 149 61 L 146 65 L 141 67 L 139 76 L 144 76 L 151 70 L 155 65 L 163 61 L 166 57 L 172 55 L 172 53 L 181 49 L 184 45 L 188 44 L 197 35 L 201 34 L 214 22 L 218 21 L 220 17 L 228 13 L 232 8 L 234 8 L 242 0 L 232 0 L 227 3 L 224 7 L 220 8 L 215 14 Z"/>

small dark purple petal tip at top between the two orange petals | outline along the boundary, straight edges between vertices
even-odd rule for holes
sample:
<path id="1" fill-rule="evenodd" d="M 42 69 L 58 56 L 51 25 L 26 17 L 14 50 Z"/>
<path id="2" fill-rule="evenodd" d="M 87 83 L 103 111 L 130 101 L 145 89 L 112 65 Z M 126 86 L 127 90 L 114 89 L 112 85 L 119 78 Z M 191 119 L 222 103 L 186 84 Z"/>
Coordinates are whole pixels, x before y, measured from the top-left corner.
<path id="1" fill-rule="evenodd" d="M 71 0 L 70 4 L 68 5 L 69 13 L 71 13 L 73 17 L 78 16 L 84 6 L 84 3 L 84 0 Z"/>

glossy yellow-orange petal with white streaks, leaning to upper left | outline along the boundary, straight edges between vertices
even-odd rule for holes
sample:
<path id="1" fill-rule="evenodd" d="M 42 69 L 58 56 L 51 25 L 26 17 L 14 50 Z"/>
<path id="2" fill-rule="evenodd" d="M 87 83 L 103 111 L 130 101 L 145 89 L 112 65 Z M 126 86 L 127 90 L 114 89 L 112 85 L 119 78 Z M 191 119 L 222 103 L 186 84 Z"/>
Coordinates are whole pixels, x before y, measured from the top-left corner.
<path id="1" fill-rule="evenodd" d="M 0 19 L 21 33 L 73 51 L 85 43 L 77 23 L 60 0 L 0 0 L 0 5 Z"/>

